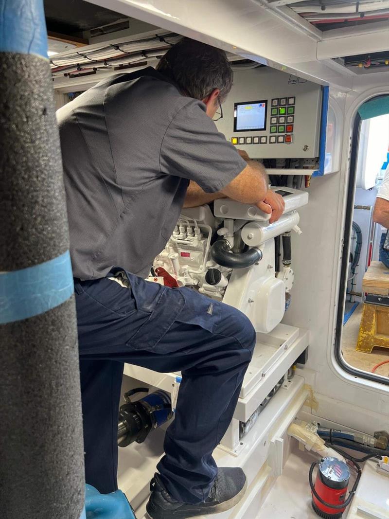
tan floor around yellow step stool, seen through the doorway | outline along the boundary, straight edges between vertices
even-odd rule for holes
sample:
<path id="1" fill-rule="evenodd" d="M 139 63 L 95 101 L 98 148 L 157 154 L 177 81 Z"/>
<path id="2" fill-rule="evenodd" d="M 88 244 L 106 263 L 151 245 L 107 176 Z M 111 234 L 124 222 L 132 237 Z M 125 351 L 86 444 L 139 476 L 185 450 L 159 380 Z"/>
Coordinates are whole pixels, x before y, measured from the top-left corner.
<path id="1" fill-rule="evenodd" d="M 384 348 L 374 348 L 371 353 L 357 351 L 355 349 L 360 318 L 362 317 L 362 304 L 359 304 L 352 316 L 343 326 L 342 335 L 342 353 L 344 360 L 353 367 L 359 370 L 370 372 L 372 368 L 384 360 L 389 360 L 389 350 Z M 377 368 L 378 375 L 384 377 L 389 376 L 389 364 L 384 364 Z"/>

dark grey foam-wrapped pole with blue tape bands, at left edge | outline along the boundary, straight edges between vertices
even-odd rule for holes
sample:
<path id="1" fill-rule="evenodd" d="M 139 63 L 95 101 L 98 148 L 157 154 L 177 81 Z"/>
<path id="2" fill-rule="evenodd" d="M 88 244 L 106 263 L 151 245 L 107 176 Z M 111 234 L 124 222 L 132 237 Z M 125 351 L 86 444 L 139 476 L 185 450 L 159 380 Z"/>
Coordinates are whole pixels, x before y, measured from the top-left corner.
<path id="1" fill-rule="evenodd" d="M 79 519 L 72 268 L 42 0 L 0 0 L 0 516 Z"/>

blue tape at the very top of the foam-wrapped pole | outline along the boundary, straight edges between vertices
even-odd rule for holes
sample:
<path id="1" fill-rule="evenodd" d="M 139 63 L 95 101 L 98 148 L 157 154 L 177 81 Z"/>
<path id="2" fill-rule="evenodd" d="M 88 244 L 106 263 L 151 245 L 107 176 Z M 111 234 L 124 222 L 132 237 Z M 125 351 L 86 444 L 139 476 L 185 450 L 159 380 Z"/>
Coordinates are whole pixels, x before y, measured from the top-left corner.
<path id="1" fill-rule="evenodd" d="M 43 0 L 0 0 L 0 52 L 47 58 Z"/>

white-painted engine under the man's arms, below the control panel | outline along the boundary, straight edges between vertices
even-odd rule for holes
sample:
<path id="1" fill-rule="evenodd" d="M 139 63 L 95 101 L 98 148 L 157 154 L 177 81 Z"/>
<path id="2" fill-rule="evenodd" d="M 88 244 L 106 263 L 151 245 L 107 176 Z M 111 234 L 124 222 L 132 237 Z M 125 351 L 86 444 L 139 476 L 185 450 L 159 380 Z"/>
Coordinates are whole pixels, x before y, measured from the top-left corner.
<path id="1" fill-rule="evenodd" d="M 191 286 L 238 308 L 257 332 L 271 332 L 284 316 L 285 295 L 289 294 L 294 277 L 290 265 L 276 272 L 274 238 L 291 229 L 301 233 L 296 209 L 308 203 L 307 192 L 283 187 L 282 193 L 286 193 L 285 211 L 273 224 L 268 223 L 265 213 L 261 218 L 259 209 L 254 214 L 248 204 L 229 199 L 217 201 L 217 216 L 208 206 L 184 209 L 165 249 L 155 258 L 154 269 L 162 267 L 178 286 Z M 222 217 L 221 213 L 225 215 Z M 247 268 L 217 264 L 210 252 L 211 241 L 218 237 L 228 240 L 235 254 L 246 250 L 252 239 L 253 246 L 262 253 L 261 260 Z"/>

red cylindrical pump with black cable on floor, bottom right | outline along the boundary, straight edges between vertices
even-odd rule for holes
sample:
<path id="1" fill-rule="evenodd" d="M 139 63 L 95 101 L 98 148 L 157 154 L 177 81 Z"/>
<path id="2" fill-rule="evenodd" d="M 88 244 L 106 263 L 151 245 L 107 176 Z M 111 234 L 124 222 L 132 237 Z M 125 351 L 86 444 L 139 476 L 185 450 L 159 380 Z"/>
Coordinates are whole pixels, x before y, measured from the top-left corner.
<path id="1" fill-rule="evenodd" d="M 318 466 L 316 481 L 313 485 L 312 474 Z M 360 468 L 355 463 L 358 476 L 346 499 L 350 481 L 350 469 L 344 461 L 327 457 L 312 463 L 309 471 L 309 484 L 312 490 L 312 508 L 324 519 L 339 519 L 350 504 L 360 477 Z"/>

